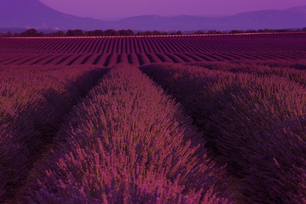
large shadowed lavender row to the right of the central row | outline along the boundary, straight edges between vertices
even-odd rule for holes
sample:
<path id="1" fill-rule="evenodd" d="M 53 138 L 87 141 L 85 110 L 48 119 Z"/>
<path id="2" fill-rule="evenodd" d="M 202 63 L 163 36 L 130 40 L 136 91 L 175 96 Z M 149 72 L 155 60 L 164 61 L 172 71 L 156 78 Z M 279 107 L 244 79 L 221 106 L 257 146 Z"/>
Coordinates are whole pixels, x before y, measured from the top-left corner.
<path id="1" fill-rule="evenodd" d="M 203 130 L 207 147 L 239 180 L 244 201 L 305 203 L 304 85 L 271 73 L 173 63 L 142 70 L 173 94 Z"/>

